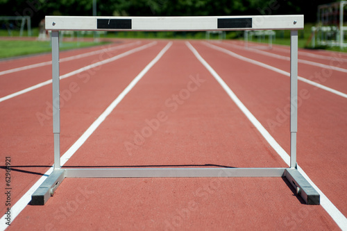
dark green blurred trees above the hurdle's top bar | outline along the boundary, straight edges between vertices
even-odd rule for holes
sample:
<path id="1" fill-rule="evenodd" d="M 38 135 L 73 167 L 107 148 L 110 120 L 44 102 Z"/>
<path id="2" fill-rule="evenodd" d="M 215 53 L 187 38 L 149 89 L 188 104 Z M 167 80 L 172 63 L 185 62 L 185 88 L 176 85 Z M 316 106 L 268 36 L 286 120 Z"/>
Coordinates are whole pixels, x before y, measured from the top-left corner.
<path id="1" fill-rule="evenodd" d="M 1 16 L 29 16 L 37 26 L 45 15 L 91 16 L 93 0 L 0 0 Z M 303 14 L 316 22 L 317 6 L 332 1 L 299 0 L 96 0 L 98 16 L 197 16 Z"/>

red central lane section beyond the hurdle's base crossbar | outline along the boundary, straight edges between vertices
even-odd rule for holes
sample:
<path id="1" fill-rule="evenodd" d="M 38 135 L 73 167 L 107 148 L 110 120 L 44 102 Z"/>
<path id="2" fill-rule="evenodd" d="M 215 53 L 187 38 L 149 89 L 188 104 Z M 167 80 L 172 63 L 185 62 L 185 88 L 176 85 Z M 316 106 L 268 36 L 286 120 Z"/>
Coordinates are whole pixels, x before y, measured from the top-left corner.
<path id="1" fill-rule="evenodd" d="M 286 166 L 195 59 L 176 42 L 67 166 Z"/>

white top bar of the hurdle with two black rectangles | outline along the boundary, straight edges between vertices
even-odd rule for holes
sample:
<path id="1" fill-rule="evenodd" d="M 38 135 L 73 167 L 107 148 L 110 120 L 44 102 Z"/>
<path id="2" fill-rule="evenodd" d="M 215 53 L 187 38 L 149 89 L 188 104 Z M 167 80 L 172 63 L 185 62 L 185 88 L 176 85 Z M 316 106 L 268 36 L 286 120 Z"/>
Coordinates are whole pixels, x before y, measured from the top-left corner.
<path id="1" fill-rule="evenodd" d="M 246 31 L 300 30 L 303 15 L 198 17 L 46 16 L 49 31 Z"/>

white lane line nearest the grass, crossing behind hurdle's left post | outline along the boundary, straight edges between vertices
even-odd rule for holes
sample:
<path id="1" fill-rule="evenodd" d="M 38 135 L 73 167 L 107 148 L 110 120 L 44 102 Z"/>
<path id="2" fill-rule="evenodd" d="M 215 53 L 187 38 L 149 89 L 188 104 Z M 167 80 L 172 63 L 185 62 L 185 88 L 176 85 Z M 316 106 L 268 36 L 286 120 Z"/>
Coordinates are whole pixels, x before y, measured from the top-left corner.
<path id="1" fill-rule="evenodd" d="M 66 57 L 66 58 L 60 58 L 59 62 L 67 62 L 67 61 L 70 61 L 70 60 L 76 60 L 76 59 L 79 59 L 79 58 L 85 58 L 85 57 L 91 56 L 91 55 L 97 55 L 99 53 L 104 53 L 104 52 L 108 52 L 108 51 L 115 51 L 117 49 L 126 48 L 128 46 L 133 46 L 133 45 L 140 44 L 140 43 L 141 42 L 132 42 L 132 43 L 123 44 L 123 45 L 119 45 L 119 46 L 112 46 L 110 48 L 103 48 L 103 49 L 100 49 L 100 50 L 97 50 L 97 51 L 90 51 L 90 52 L 86 52 L 86 53 L 81 53 L 79 55 L 73 55 L 73 56 L 69 56 L 69 57 Z M 24 66 L 24 67 L 16 67 L 16 68 L 13 68 L 13 69 L 8 69 L 6 71 L 0 71 L 0 76 L 3 76 L 5 74 L 14 73 L 14 72 L 17 72 L 17 71 L 24 71 L 24 70 L 27 70 L 27 69 L 33 69 L 35 67 L 44 67 L 46 65 L 51 65 L 51 64 L 52 64 L 52 61 L 46 61 L 46 62 L 35 63 L 33 65 L 27 65 L 27 66 Z"/>

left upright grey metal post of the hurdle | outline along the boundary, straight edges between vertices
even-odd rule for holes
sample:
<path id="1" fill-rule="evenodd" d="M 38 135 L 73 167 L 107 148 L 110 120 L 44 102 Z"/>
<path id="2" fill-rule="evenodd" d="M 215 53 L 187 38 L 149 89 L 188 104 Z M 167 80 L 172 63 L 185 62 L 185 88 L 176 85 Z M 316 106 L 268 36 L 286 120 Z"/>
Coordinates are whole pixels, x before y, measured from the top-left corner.
<path id="1" fill-rule="evenodd" d="M 52 31 L 54 169 L 60 169 L 59 31 Z"/>

